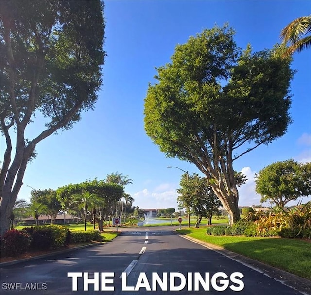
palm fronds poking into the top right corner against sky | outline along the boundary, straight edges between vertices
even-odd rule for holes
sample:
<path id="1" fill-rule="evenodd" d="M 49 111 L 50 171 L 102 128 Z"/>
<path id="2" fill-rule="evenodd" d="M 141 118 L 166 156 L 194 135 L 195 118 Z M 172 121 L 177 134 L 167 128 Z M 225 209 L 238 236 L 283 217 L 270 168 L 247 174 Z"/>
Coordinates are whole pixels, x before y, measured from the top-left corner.
<path id="1" fill-rule="evenodd" d="M 294 19 L 281 31 L 281 39 L 284 43 L 290 43 L 288 53 L 301 52 L 304 48 L 310 48 L 311 15 Z"/>

